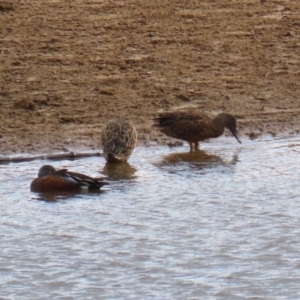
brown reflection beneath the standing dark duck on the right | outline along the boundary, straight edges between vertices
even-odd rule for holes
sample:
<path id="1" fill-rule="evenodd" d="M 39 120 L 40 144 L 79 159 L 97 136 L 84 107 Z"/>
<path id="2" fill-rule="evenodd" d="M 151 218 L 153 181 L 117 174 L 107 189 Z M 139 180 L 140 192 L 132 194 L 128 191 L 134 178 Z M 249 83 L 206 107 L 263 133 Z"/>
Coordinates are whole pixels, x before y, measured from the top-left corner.
<path id="1" fill-rule="evenodd" d="M 220 156 L 208 154 L 203 150 L 195 152 L 179 152 L 168 154 L 163 157 L 159 166 L 171 166 L 179 164 L 188 164 L 189 167 L 197 169 L 217 167 L 220 165 L 232 165 L 238 161 L 238 156 L 235 154 L 230 161 L 224 161 Z"/>

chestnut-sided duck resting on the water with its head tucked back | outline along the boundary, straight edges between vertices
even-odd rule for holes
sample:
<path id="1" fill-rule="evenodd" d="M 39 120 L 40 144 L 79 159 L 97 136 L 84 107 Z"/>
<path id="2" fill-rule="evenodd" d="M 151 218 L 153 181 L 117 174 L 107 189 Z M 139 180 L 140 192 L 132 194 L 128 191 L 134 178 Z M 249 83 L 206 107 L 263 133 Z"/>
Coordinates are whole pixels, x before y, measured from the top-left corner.
<path id="1" fill-rule="evenodd" d="M 103 178 L 93 178 L 70 172 L 68 169 L 57 170 L 51 165 L 44 165 L 39 169 L 38 177 L 31 182 L 30 189 L 33 192 L 98 190 L 106 184 L 108 183 Z"/>

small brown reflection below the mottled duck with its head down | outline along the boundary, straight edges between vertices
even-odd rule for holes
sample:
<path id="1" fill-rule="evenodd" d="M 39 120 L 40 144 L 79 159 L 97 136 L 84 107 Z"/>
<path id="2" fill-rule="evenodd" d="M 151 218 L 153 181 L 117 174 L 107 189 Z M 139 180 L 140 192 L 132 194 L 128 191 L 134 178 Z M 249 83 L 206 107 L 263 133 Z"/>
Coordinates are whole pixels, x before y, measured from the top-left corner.
<path id="1" fill-rule="evenodd" d="M 136 168 L 132 167 L 129 163 L 106 163 L 102 174 L 107 175 L 111 180 L 120 180 L 120 179 L 132 179 L 136 176 L 134 175 Z"/>

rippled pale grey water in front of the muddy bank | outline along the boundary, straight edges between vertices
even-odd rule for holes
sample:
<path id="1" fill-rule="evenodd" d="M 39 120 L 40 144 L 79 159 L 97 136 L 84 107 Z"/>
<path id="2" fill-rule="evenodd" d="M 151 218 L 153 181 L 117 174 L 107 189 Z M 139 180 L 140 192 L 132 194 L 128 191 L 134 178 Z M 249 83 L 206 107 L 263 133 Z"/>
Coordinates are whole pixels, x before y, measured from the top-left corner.
<path id="1" fill-rule="evenodd" d="M 300 299 L 300 138 L 0 165 L 2 299 Z M 101 193 L 29 190 L 43 164 Z"/>

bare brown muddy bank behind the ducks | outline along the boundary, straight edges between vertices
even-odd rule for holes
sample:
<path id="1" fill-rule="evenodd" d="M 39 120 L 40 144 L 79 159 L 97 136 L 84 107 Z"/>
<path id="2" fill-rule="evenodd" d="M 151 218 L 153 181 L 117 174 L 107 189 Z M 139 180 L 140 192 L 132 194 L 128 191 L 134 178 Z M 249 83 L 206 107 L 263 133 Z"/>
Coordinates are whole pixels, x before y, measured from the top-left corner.
<path id="1" fill-rule="evenodd" d="M 182 105 L 234 114 L 242 139 L 299 132 L 298 0 L 14 4 L 0 10 L 2 155 L 100 149 L 117 115 L 140 144 L 169 143 L 152 118 Z"/>

